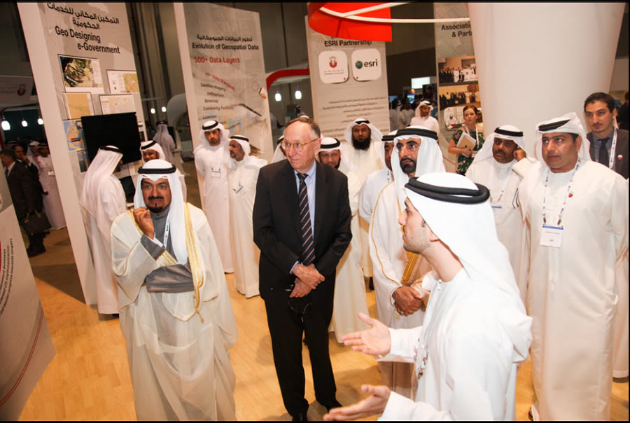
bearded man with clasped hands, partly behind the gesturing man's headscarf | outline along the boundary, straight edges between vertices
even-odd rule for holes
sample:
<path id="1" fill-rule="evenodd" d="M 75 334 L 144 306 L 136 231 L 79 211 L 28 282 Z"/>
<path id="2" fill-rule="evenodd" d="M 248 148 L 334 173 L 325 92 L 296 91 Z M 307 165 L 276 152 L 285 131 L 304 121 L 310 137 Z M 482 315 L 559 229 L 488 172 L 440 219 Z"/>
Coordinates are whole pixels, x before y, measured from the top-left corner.
<path id="1" fill-rule="evenodd" d="M 396 132 L 391 169 L 394 181 L 381 190 L 370 223 L 370 256 L 379 321 L 391 328 L 414 328 L 422 324 L 424 293 L 421 277 L 430 271 L 419 254 L 405 251 L 398 216 L 405 209 L 405 183 L 427 172 L 444 172 L 437 134 L 424 127 Z M 409 363 L 379 363 L 381 382 L 408 398 L 415 383 Z"/>

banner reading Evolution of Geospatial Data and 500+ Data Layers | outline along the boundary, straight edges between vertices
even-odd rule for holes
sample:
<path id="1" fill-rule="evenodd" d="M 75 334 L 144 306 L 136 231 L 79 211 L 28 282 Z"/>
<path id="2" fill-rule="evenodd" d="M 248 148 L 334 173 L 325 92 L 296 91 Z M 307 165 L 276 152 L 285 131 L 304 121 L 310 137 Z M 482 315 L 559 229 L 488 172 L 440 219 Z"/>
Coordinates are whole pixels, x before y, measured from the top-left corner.
<path id="1" fill-rule="evenodd" d="M 200 143 L 202 124 L 213 119 L 230 134 L 248 137 L 271 161 L 258 13 L 209 3 L 174 7 L 193 146 Z"/>

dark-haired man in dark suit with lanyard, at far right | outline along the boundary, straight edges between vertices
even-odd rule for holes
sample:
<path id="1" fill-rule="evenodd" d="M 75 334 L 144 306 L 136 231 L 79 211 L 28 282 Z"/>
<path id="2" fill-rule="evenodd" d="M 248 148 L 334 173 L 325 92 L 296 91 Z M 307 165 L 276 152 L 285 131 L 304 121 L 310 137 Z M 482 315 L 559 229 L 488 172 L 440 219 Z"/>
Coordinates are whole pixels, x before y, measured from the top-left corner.
<path id="1" fill-rule="evenodd" d="M 591 160 L 600 162 L 628 179 L 628 131 L 612 125 L 616 113 L 615 99 L 610 94 L 594 92 L 584 100 L 584 116 L 591 129 L 587 134 L 591 144 Z M 605 152 L 601 149 L 602 141 L 605 141 Z"/>

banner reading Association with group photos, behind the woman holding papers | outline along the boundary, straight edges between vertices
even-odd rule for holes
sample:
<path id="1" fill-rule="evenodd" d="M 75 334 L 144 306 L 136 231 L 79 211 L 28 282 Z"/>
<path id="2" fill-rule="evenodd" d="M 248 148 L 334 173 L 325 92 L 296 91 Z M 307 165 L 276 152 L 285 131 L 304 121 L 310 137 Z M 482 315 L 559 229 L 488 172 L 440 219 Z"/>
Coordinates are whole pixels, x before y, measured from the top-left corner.
<path id="1" fill-rule="evenodd" d="M 468 8 L 465 3 L 433 4 L 435 19 L 467 16 Z M 463 108 L 472 104 L 477 109 L 481 109 L 477 65 L 472 48 L 470 22 L 444 22 L 434 24 L 434 27 L 440 147 L 447 170 L 454 171 L 456 158 L 447 150 L 449 141 L 463 125 Z M 479 130 L 483 130 L 481 113 L 479 113 L 478 127 Z"/>

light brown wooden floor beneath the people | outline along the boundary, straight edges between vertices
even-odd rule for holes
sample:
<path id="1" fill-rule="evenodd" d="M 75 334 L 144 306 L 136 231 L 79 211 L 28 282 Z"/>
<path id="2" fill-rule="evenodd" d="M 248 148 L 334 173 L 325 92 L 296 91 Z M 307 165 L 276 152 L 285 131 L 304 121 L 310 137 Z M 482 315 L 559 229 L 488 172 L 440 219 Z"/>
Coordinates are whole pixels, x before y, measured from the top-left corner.
<path id="1" fill-rule="evenodd" d="M 199 205 L 194 165 L 185 162 L 188 199 Z M 45 238 L 47 252 L 30 259 L 48 327 L 57 354 L 43 373 L 20 420 L 134 420 L 125 340 L 118 319 L 99 315 L 85 305 L 66 230 Z M 260 297 L 246 299 L 226 275 L 239 339 L 231 349 L 237 384 L 235 401 L 239 420 L 288 420 L 271 352 L 265 307 Z M 367 304 L 376 316 L 374 291 Z M 344 405 L 363 394 L 360 384 L 379 384 L 377 365 L 365 356 L 337 344 L 330 335 L 330 356 L 337 382 L 337 399 Z M 321 419 L 325 408 L 315 401 L 308 352 L 304 348 L 306 398 L 309 419 Z M 517 380 L 517 419 L 527 420 L 533 402 L 531 364 L 521 366 Z M 611 419 L 628 421 L 628 382 L 613 383 Z M 372 418 L 372 420 L 376 417 Z"/>

